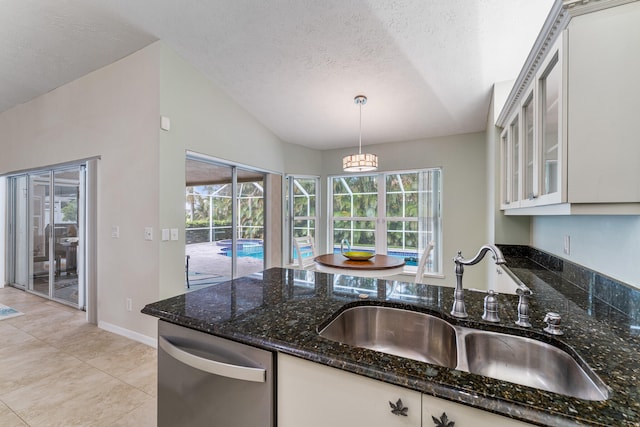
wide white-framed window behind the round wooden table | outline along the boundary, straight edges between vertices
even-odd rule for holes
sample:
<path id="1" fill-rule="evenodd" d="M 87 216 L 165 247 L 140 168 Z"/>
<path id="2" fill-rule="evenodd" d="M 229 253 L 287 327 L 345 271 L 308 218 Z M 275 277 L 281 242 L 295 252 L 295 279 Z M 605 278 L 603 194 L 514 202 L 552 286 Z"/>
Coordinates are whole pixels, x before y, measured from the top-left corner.
<path id="1" fill-rule="evenodd" d="M 416 266 L 433 241 L 426 271 L 440 274 L 440 177 L 440 169 L 426 169 L 329 178 L 333 251 L 347 239 L 353 249 L 401 256 Z"/>

